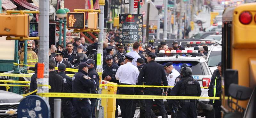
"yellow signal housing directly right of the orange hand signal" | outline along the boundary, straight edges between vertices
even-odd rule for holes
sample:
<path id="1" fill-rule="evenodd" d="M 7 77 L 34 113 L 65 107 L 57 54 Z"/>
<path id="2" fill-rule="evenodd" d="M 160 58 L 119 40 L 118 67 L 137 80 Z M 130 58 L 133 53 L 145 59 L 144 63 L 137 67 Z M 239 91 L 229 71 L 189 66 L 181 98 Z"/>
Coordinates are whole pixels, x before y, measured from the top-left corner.
<path id="1" fill-rule="evenodd" d="M 88 29 L 91 29 L 91 30 L 98 29 L 98 12 L 88 13 Z"/>

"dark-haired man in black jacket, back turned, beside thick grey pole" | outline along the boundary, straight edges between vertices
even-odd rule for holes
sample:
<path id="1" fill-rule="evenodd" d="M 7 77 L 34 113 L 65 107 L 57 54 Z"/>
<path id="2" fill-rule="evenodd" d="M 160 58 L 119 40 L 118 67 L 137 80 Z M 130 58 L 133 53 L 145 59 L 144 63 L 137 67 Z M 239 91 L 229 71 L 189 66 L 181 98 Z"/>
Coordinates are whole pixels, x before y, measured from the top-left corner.
<path id="1" fill-rule="evenodd" d="M 49 63 L 49 85 L 51 89 L 49 92 L 63 92 L 64 91 L 64 81 L 63 77 L 57 74 L 55 71 L 54 63 Z M 51 117 L 53 118 L 54 114 L 54 99 L 60 99 L 60 97 L 50 97 L 49 105 L 51 107 Z"/>

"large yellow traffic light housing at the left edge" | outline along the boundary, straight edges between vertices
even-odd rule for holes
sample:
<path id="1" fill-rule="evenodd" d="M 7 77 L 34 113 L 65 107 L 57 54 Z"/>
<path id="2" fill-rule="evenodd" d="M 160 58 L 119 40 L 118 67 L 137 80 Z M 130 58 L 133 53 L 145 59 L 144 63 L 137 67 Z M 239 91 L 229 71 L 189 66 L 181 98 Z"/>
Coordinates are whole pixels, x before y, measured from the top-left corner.
<path id="1" fill-rule="evenodd" d="M 0 14 L 0 36 L 29 37 L 29 14 Z"/>

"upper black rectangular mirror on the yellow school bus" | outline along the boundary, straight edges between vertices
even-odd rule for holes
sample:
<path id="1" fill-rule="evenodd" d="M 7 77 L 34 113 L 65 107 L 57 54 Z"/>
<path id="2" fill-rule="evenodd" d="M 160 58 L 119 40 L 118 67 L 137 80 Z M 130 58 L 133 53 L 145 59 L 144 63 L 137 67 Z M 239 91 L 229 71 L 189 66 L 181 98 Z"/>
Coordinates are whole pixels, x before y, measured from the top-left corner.
<path id="1" fill-rule="evenodd" d="M 225 91 L 228 91 L 230 84 L 238 84 L 238 71 L 233 69 L 226 69 L 224 77 Z M 225 92 L 225 96 L 230 96 L 228 92 Z"/>

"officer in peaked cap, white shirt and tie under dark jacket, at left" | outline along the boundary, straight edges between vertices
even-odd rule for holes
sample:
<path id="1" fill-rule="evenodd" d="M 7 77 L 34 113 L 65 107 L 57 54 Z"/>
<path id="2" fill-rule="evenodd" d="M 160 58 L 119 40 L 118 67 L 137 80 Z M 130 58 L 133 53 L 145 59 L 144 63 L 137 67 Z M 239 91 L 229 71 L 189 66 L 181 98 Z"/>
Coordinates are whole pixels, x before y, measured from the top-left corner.
<path id="1" fill-rule="evenodd" d="M 72 64 L 69 63 L 68 61 L 66 61 L 65 59 L 63 59 L 64 54 L 65 54 L 64 52 L 61 52 L 59 50 L 55 50 L 56 67 L 58 67 L 60 63 L 64 63 L 66 65 L 66 68 L 72 68 L 73 69 Z M 70 71 L 66 71 L 65 73 L 66 74 L 74 74 L 74 72 L 70 72 Z"/>

